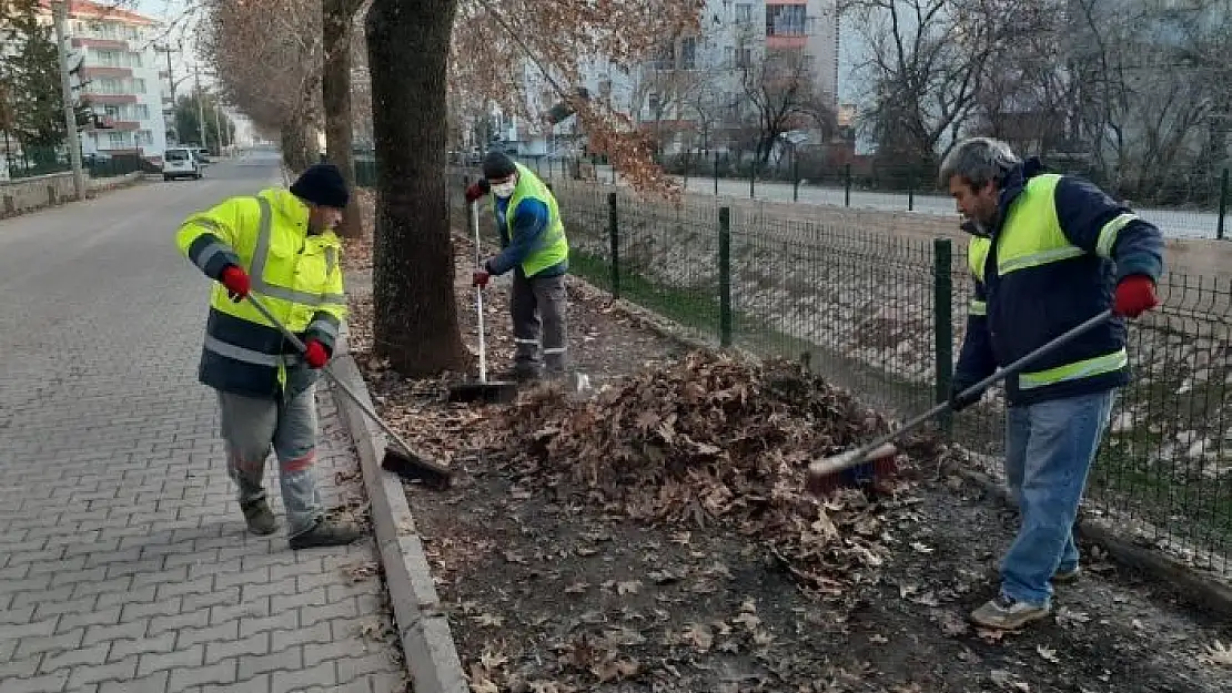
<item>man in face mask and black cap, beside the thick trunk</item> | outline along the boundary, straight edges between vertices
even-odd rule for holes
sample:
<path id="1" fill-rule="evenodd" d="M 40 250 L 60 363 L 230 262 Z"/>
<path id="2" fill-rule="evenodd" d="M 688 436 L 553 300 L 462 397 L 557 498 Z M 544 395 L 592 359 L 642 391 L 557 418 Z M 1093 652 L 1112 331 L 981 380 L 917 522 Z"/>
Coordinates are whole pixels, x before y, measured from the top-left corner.
<path id="1" fill-rule="evenodd" d="M 500 151 L 484 156 L 483 178 L 467 187 L 467 204 L 488 192 L 495 197 L 493 212 L 503 250 L 483 261 L 473 283 L 482 288 L 493 274 L 514 271 L 509 302 L 516 342 L 513 378 L 525 382 L 541 375 L 542 332 L 542 363 L 549 378 L 561 379 L 565 374 L 569 241 L 556 197 L 533 171 Z"/>

